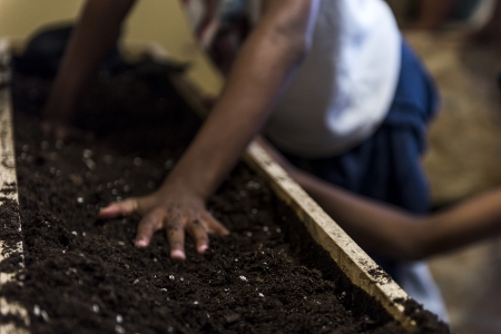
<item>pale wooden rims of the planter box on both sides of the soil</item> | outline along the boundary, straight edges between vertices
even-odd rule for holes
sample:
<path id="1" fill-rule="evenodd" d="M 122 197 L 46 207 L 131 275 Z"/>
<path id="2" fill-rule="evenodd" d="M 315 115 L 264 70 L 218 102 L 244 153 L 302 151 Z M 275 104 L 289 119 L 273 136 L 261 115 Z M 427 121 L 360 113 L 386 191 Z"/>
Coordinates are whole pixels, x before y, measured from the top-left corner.
<path id="1" fill-rule="evenodd" d="M 150 48 L 156 49 L 156 48 Z M 0 204 L 6 200 L 18 202 L 14 151 L 12 139 L 12 108 L 8 85 L 8 68 L 4 66 L 10 53 L 7 41 L 0 40 Z M 160 57 L 156 55 L 156 57 Z M 3 66 L 2 66 L 3 63 Z M 206 110 L 200 95 L 183 76 L 171 78 L 178 92 L 194 110 L 205 115 Z M 258 174 L 263 175 L 276 195 L 286 203 L 304 224 L 311 236 L 321 245 L 345 274 L 347 284 L 372 297 L 405 330 L 415 328 L 416 321 L 407 315 L 405 304 L 410 298 L 406 293 L 370 258 L 344 230 L 265 153 L 256 143 L 249 145 L 245 161 Z M 14 217 L 21 232 L 19 215 Z M 0 222 L 0 228 L 4 222 Z M 22 243 L 17 247 L 4 249 L 0 240 L 0 261 L 10 254 L 22 254 Z M 3 254 L 3 255 L 2 255 Z M 20 257 L 22 259 L 22 257 Z M 21 267 L 21 266 L 20 266 Z M 0 284 L 10 279 L 10 275 L 1 274 Z M 17 314 L 29 323 L 28 313 L 22 307 L 0 301 L 2 315 Z M 26 333 L 13 324 L 0 324 L 0 333 Z"/>

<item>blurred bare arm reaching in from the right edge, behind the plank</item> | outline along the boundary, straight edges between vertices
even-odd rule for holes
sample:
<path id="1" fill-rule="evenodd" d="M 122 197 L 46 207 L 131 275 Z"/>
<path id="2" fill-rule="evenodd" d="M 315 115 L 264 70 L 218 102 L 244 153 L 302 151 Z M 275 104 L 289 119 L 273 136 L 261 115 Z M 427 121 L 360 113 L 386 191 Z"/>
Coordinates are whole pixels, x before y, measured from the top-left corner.
<path id="1" fill-rule="evenodd" d="M 418 216 L 299 170 L 268 144 L 262 144 L 350 236 L 389 258 L 420 259 L 501 233 L 501 189 L 438 214 Z"/>

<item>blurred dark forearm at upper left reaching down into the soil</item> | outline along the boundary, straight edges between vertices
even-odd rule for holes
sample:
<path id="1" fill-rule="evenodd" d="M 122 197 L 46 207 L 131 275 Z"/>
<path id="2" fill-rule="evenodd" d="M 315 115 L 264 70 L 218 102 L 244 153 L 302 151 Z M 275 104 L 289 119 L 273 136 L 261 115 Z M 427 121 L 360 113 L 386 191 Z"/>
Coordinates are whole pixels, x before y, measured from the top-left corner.
<path id="1" fill-rule="evenodd" d="M 69 121 L 135 0 L 88 0 L 65 51 L 45 117 Z M 69 111 L 69 112 L 68 112 Z"/>

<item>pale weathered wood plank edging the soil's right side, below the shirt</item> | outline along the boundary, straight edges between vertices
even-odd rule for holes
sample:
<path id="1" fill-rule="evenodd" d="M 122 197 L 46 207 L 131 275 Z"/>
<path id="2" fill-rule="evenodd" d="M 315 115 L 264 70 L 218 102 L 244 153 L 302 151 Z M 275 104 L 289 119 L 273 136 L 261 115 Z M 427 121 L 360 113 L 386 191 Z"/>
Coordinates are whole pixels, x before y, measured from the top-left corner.
<path id="1" fill-rule="evenodd" d="M 377 264 L 291 179 L 259 144 L 250 144 L 245 160 L 295 210 L 312 237 L 328 252 L 352 283 L 373 296 L 404 328 L 412 331 L 415 322 L 405 315 L 402 304 L 409 298 L 407 294 L 384 275 Z"/>

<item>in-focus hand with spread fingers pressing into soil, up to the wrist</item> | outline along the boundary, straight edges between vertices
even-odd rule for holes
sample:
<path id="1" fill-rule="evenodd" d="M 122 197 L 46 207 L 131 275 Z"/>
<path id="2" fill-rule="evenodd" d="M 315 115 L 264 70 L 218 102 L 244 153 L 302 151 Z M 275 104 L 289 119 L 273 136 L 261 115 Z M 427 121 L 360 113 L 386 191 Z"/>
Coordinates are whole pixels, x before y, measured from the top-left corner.
<path id="1" fill-rule="evenodd" d="M 185 233 L 195 242 L 198 254 L 208 248 L 208 234 L 227 235 L 229 230 L 207 212 L 205 200 L 183 186 L 164 186 L 144 197 L 111 203 L 99 212 L 99 218 L 111 219 L 139 214 L 135 244 L 147 247 L 153 235 L 164 229 L 170 245 L 170 258 L 184 261 Z"/>

